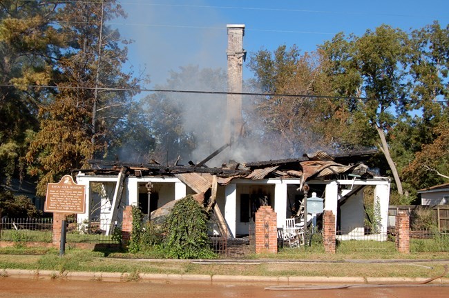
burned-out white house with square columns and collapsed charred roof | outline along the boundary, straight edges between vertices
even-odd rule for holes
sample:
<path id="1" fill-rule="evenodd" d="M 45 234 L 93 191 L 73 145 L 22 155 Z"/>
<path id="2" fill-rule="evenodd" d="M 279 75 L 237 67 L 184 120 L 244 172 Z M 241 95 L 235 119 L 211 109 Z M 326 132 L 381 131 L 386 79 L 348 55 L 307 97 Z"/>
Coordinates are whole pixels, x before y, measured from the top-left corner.
<path id="1" fill-rule="evenodd" d="M 228 236 L 240 237 L 249 234 L 261 203 L 274 208 L 278 228 L 282 228 L 285 219 L 296 215 L 307 183 L 307 197 L 315 192 L 323 197 L 324 209 L 336 215 L 336 228 L 345 236 L 342 239 L 369 239 L 364 230 L 363 189 L 373 186 L 381 214 L 379 232 L 386 239 L 390 179 L 373 175 L 360 162 L 371 154 L 331 157 L 316 152 L 298 159 L 233 163 L 222 168 L 90 161 L 94 169 L 81 170 L 77 175 L 77 183 L 86 185 L 88 210 L 78 215 L 78 220 L 96 217 L 108 223 L 120 222 L 124 206 L 140 206 L 148 216 L 167 203 L 200 194 L 206 204 L 209 197 L 215 199 L 213 212 L 225 221 Z"/>

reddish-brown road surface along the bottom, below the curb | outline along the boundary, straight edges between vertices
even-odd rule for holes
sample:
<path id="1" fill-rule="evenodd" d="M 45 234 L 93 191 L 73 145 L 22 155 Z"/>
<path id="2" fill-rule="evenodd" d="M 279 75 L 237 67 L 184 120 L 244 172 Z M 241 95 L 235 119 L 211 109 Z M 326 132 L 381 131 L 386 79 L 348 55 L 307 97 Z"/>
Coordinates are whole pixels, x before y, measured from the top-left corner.
<path id="1" fill-rule="evenodd" d="M 239 284 L 236 282 L 167 282 L 167 281 L 73 281 L 65 279 L 35 279 L 0 277 L 0 297 L 301 297 L 301 298 L 447 298 L 447 286 L 417 286 L 402 288 L 346 288 L 334 290 L 265 290 L 270 284 Z M 304 286 L 304 285 L 298 285 Z"/>

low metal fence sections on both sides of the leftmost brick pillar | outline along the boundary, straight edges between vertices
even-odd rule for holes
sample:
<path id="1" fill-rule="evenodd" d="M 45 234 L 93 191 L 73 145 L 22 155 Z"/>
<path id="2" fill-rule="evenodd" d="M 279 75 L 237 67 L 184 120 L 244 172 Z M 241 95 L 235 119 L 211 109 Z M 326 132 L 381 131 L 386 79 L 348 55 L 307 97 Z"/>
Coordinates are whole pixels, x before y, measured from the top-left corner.
<path id="1" fill-rule="evenodd" d="M 79 223 L 68 219 L 67 243 L 118 244 L 122 230 L 120 225 L 111 224 L 104 219 Z M 111 235 L 106 235 L 106 228 L 111 226 Z M 3 218 L 0 223 L 0 241 L 13 242 L 52 242 L 52 218 Z"/>

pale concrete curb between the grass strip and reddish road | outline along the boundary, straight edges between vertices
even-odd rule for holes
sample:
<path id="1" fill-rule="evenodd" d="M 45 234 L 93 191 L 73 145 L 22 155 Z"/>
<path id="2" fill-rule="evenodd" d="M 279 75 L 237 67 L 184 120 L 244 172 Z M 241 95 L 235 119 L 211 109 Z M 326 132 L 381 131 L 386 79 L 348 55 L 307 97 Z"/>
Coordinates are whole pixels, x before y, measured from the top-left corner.
<path id="1" fill-rule="evenodd" d="M 278 285 L 316 283 L 316 284 L 411 284 L 425 281 L 423 277 L 266 277 L 242 275 L 174 275 L 120 272 L 57 272 L 54 270 L 0 269 L 0 276 L 26 279 L 68 279 L 77 281 L 202 281 L 209 283 L 273 283 Z M 435 279 L 429 284 L 449 284 L 449 278 Z"/>

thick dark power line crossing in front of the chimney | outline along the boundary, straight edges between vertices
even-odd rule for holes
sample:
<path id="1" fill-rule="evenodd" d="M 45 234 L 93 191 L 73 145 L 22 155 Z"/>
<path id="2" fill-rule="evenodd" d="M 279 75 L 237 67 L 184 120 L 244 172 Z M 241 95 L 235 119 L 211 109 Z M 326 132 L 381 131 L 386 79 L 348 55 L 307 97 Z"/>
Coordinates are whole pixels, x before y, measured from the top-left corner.
<path id="1" fill-rule="evenodd" d="M 162 92 L 162 93 L 187 93 L 187 94 L 204 94 L 204 95 L 242 95 L 242 96 L 263 96 L 263 97 L 305 97 L 311 99 L 360 99 L 360 100 L 399 100 L 395 98 L 381 99 L 377 97 L 343 97 L 336 95 L 293 95 L 285 93 L 262 93 L 262 92 L 227 92 L 227 91 L 204 91 L 204 90 L 175 90 L 175 89 L 151 89 L 151 88 L 106 88 L 106 87 L 79 87 L 79 86 L 41 86 L 41 85 L 13 85 L 0 84 L 0 87 L 21 87 L 21 88 L 53 88 L 53 89 L 70 89 L 70 90 L 101 90 L 111 92 Z M 412 101 L 412 99 L 402 99 L 403 101 Z M 421 102 L 447 103 L 446 100 L 423 100 Z"/>

